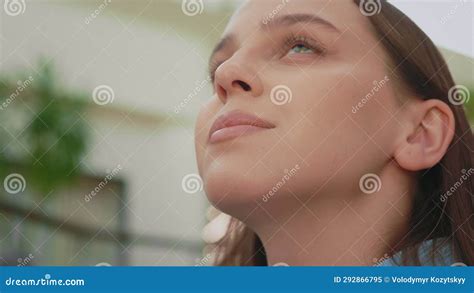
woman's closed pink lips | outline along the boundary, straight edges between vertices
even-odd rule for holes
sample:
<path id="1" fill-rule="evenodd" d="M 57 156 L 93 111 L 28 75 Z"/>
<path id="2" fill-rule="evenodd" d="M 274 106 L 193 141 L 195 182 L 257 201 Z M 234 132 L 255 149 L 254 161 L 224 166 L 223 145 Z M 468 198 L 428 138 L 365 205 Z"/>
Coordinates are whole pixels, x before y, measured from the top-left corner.
<path id="1" fill-rule="evenodd" d="M 219 116 L 209 131 L 209 143 L 240 137 L 255 131 L 275 128 L 275 124 L 239 110 Z"/>

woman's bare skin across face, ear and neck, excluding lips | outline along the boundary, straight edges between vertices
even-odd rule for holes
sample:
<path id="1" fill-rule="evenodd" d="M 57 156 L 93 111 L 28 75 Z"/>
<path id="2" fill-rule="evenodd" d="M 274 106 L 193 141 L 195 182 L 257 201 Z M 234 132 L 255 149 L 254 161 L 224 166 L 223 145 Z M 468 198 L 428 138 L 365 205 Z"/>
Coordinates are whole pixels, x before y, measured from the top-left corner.
<path id="1" fill-rule="evenodd" d="M 373 265 L 406 233 L 415 174 L 446 153 L 453 113 L 400 86 L 352 1 L 292 0 L 269 20 L 281 3 L 243 4 L 223 34 L 233 41 L 212 56 L 216 94 L 200 111 L 195 139 L 206 194 L 258 234 L 270 265 Z M 331 26 L 307 17 L 276 24 L 290 14 Z M 291 35 L 298 37 L 285 44 Z M 290 103 L 272 102 L 277 85 L 291 90 Z M 214 120 L 232 110 L 276 127 L 209 143 Z M 359 186 L 368 173 L 381 183 L 371 194 Z"/>

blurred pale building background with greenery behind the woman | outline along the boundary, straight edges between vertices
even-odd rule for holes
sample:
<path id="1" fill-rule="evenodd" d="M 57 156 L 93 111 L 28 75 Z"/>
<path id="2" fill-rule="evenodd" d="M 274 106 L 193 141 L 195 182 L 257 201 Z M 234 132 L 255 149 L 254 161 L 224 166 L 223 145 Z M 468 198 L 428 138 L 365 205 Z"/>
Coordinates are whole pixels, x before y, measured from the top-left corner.
<path id="1" fill-rule="evenodd" d="M 228 218 L 202 191 L 194 120 L 237 2 L 1 2 L 0 265 L 210 265 Z M 472 2 L 392 2 L 474 121 Z"/>

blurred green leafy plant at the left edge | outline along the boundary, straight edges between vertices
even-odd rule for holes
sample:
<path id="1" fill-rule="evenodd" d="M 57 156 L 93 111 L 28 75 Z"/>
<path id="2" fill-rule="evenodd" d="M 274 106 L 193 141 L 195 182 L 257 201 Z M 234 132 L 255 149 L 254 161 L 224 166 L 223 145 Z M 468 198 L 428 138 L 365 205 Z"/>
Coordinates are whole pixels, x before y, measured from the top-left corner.
<path id="1" fill-rule="evenodd" d="M 44 62 L 34 76 L 0 76 L 0 178 L 21 173 L 43 195 L 71 183 L 86 151 L 85 107 Z"/>

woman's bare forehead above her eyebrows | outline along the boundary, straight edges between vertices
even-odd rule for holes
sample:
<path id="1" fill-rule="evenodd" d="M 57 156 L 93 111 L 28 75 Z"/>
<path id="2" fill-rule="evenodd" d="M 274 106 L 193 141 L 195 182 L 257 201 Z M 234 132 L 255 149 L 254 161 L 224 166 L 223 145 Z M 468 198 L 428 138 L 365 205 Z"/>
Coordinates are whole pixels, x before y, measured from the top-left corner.
<path id="1" fill-rule="evenodd" d="M 224 33 L 248 35 L 276 17 L 303 13 L 321 17 L 341 31 L 350 27 L 357 32 L 367 25 L 352 0 L 248 0 L 234 13 Z"/>

